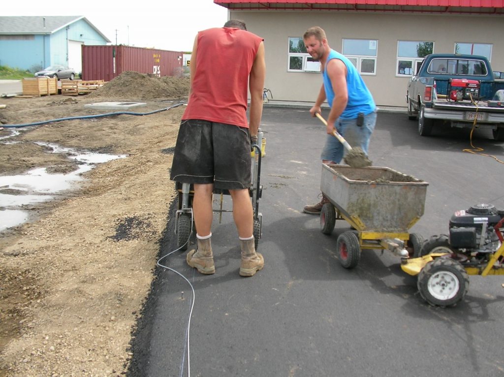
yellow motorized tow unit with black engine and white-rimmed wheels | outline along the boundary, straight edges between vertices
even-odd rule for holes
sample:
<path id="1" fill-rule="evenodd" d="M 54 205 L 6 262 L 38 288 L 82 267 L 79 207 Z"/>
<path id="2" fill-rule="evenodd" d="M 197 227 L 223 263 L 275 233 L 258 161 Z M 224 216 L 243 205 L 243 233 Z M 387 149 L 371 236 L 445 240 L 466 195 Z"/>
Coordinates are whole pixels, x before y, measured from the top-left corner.
<path id="1" fill-rule="evenodd" d="M 504 275 L 504 211 L 478 204 L 457 211 L 450 234 L 430 237 L 420 258 L 404 261 L 402 269 L 418 275 L 418 290 L 431 305 L 451 306 L 469 289 L 469 275 Z"/>

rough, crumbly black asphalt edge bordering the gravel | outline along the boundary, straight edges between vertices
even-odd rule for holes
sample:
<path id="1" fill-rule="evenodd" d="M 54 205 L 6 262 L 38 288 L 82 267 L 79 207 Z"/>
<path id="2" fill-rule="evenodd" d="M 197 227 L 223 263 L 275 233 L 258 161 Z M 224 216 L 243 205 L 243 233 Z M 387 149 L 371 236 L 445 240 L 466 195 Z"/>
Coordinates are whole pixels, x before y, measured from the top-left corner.
<path id="1" fill-rule="evenodd" d="M 159 243 L 159 250 L 157 259 L 166 255 L 166 250 L 173 250 L 175 247 L 173 245 L 175 234 L 175 213 L 177 210 L 177 198 L 175 197 L 169 206 L 168 216 L 166 219 L 166 227 L 163 230 L 163 234 Z M 173 219 L 173 221 L 172 221 Z M 137 313 L 137 323 L 134 325 L 132 330 L 132 338 L 130 341 L 130 352 L 133 354 L 130 359 L 130 365 L 128 367 L 126 375 L 128 377 L 145 377 L 145 371 L 148 370 L 149 356 L 150 356 L 150 342 L 152 338 L 153 331 L 153 321 L 154 313 L 156 313 L 155 308 L 158 305 L 156 297 L 158 297 L 157 289 L 159 289 L 159 275 L 161 272 L 165 271 L 164 268 L 159 267 L 156 264 L 154 271 L 154 279 L 151 282 L 151 289 L 149 295 L 146 297 L 145 302 L 142 305 L 140 313 Z"/>

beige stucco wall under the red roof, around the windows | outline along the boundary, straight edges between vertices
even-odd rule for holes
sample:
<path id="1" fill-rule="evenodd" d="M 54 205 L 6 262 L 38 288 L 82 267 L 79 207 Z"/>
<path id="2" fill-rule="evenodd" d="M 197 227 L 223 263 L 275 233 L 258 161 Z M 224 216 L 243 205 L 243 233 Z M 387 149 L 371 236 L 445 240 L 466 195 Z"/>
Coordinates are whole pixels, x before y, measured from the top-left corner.
<path id="1" fill-rule="evenodd" d="M 492 68 L 504 71 L 504 18 L 423 14 L 349 13 L 330 11 L 233 11 L 230 19 L 245 21 L 247 29 L 265 39 L 265 87 L 274 100 L 313 102 L 321 88 L 320 73 L 287 72 L 288 37 L 302 37 L 320 26 L 329 45 L 341 52 L 343 38 L 377 39 L 376 76 L 363 76 L 376 104 L 406 106 L 408 78 L 396 77 L 397 41 L 433 41 L 435 53 L 454 52 L 455 42 L 491 43 Z"/>

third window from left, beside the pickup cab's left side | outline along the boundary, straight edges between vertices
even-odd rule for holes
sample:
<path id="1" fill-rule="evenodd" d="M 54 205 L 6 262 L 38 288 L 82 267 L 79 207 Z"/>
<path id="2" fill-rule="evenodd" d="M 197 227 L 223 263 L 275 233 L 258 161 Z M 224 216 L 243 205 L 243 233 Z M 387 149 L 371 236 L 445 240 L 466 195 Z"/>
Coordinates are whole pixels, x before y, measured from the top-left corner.
<path id="1" fill-rule="evenodd" d="M 416 75 L 422 65 L 423 58 L 433 50 L 434 42 L 398 41 L 396 76 Z"/>

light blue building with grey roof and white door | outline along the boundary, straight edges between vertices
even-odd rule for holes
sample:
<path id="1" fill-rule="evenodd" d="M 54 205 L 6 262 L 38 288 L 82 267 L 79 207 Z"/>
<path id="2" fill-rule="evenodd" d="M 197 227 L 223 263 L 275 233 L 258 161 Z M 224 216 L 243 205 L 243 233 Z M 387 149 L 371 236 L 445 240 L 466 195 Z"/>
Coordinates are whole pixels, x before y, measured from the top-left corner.
<path id="1" fill-rule="evenodd" d="M 110 40 L 84 16 L 0 17 L 0 66 L 31 72 L 51 65 L 82 72 L 82 45 Z"/>

